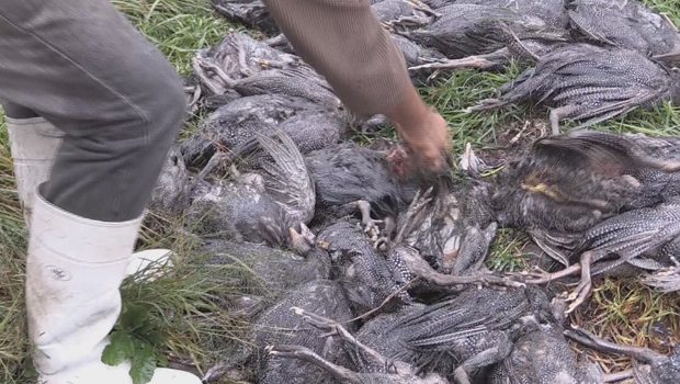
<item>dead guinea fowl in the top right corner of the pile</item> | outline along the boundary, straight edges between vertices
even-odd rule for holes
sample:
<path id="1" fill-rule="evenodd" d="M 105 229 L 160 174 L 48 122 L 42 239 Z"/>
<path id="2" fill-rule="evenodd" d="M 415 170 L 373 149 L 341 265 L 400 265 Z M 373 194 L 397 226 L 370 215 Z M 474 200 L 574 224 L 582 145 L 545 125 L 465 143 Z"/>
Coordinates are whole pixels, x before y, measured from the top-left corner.
<path id="1" fill-rule="evenodd" d="M 579 39 L 636 49 L 650 57 L 680 53 L 680 33 L 668 18 L 637 0 L 569 0 Z"/>

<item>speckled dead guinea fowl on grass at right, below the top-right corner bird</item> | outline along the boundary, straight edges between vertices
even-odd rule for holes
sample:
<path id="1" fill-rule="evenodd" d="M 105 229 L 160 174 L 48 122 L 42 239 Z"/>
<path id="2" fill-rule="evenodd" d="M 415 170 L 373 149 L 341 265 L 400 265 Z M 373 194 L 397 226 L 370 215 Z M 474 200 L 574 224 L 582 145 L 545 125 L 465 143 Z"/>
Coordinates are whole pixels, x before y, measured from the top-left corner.
<path id="1" fill-rule="evenodd" d="M 554 108 L 554 135 L 564 118 L 583 128 L 639 106 L 680 101 L 680 74 L 627 47 L 586 43 L 560 46 L 539 58 L 535 67 L 500 89 L 499 99 L 481 100 L 467 112 L 535 101 Z"/>

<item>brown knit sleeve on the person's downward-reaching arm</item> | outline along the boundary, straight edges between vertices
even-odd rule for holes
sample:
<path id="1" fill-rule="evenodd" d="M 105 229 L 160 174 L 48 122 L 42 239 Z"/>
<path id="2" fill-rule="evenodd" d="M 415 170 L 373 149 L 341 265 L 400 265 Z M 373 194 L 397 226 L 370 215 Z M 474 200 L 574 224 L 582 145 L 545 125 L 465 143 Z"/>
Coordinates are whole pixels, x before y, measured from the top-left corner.
<path id="1" fill-rule="evenodd" d="M 412 87 L 369 0 L 263 0 L 297 55 L 356 114 L 386 113 Z"/>

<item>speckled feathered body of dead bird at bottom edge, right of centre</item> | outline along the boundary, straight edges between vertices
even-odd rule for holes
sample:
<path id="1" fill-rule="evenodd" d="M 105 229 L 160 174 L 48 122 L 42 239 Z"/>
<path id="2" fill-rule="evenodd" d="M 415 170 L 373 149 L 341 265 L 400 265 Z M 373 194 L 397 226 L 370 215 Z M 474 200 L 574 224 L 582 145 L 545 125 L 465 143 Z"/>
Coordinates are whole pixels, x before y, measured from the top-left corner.
<path id="1" fill-rule="evenodd" d="M 535 287 L 508 292 L 471 287 L 454 298 L 405 308 L 392 317 L 394 321 L 371 331 L 361 328 L 358 338 L 387 359 L 440 373 L 452 383 L 476 382 L 486 376 L 485 369 L 512 352 L 512 329 L 521 326 L 522 318 L 556 321 L 549 304 L 546 293 Z"/>

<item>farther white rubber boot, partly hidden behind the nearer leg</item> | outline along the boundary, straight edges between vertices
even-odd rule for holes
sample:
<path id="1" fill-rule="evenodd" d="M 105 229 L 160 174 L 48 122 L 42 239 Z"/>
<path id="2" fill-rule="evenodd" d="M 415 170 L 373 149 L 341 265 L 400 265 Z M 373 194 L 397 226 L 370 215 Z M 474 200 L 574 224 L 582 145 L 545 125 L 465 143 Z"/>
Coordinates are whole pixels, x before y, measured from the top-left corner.
<path id="1" fill-rule="evenodd" d="M 38 184 L 49 179 L 52 165 L 61 145 L 64 132 L 43 117 L 12 118 L 7 122 L 10 150 L 14 165 L 16 190 L 24 215 L 24 223 L 31 227 L 33 194 Z M 170 264 L 169 249 L 151 249 L 131 257 L 128 274 L 146 269 L 152 262 Z"/>

